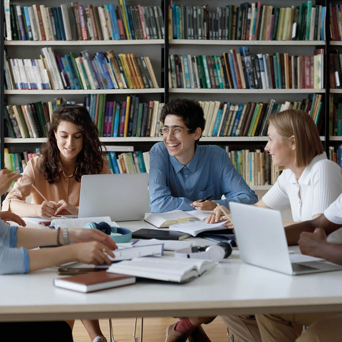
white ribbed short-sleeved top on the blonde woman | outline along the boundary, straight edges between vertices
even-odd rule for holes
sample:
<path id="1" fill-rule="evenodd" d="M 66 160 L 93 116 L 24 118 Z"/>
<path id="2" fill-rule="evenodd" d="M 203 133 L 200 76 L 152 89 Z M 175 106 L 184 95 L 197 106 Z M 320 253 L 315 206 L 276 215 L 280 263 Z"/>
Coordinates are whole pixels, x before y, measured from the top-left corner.
<path id="1" fill-rule="evenodd" d="M 307 221 L 323 213 L 341 193 L 341 168 L 322 153 L 312 159 L 298 181 L 290 169 L 284 170 L 262 200 L 280 211 L 291 206 L 293 221 Z M 330 234 L 329 240 L 342 244 L 342 230 Z"/>

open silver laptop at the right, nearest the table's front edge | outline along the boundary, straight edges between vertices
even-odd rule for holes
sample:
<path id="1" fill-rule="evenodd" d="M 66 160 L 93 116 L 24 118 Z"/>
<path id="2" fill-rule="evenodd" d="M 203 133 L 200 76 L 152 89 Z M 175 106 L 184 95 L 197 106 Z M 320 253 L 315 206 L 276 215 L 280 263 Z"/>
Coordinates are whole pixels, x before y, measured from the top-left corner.
<path id="1" fill-rule="evenodd" d="M 297 275 L 342 270 L 323 259 L 289 254 L 281 213 L 229 202 L 240 258 L 247 264 Z"/>

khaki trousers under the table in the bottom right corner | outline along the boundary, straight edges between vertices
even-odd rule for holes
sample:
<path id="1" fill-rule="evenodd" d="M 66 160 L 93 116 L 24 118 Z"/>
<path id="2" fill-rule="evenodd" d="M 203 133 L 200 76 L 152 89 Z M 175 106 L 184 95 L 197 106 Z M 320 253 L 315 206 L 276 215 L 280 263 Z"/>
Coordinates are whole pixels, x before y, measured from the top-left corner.
<path id="1" fill-rule="evenodd" d="M 342 313 L 256 315 L 263 342 L 338 342 L 342 341 Z M 297 337 L 292 323 L 308 328 Z"/>

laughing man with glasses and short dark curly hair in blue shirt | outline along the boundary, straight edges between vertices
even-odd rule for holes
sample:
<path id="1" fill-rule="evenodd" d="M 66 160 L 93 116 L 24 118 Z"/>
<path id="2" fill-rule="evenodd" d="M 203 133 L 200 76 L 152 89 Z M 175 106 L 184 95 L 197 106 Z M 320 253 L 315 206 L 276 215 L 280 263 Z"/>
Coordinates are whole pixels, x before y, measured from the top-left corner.
<path id="1" fill-rule="evenodd" d="M 212 210 L 229 201 L 258 201 L 225 150 L 198 145 L 205 119 L 201 106 L 192 100 L 175 99 L 161 112 L 163 142 L 150 150 L 149 194 L 153 213 L 171 210 Z M 205 200 L 211 196 L 211 200 Z M 222 195 L 226 199 L 221 199 Z"/>

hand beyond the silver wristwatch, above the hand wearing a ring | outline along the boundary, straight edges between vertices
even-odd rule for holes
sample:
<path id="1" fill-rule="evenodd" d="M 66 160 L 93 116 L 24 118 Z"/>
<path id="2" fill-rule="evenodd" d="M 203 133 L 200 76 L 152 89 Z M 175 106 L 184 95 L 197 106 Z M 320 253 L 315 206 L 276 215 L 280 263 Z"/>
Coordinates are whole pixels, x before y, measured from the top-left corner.
<path id="1" fill-rule="evenodd" d="M 101 242 L 101 244 L 105 245 L 110 250 L 118 248 L 109 235 L 98 229 L 68 228 L 68 239 L 69 242 L 75 243 L 89 241 Z"/>

